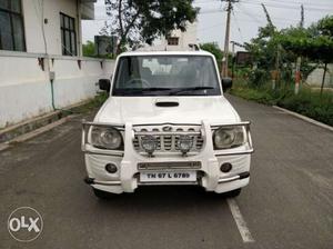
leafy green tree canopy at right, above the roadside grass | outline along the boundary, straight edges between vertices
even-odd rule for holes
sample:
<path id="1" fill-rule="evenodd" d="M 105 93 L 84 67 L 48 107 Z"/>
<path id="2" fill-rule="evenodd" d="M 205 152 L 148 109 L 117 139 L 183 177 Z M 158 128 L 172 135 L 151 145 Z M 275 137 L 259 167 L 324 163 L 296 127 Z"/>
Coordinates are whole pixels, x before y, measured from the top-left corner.
<path id="1" fill-rule="evenodd" d="M 302 27 L 301 20 L 297 27 L 279 31 L 266 10 L 265 13 L 268 24 L 259 29 L 256 38 L 245 43 L 256 66 L 250 73 L 250 83 L 255 87 L 263 84 L 264 80 L 271 79 L 271 71 L 276 69 L 280 84 L 292 82 L 297 57 L 302 57 L 303 80 L 315 68 L 333 61 L 333 16 L 327 16 L 306 29 Z"/>

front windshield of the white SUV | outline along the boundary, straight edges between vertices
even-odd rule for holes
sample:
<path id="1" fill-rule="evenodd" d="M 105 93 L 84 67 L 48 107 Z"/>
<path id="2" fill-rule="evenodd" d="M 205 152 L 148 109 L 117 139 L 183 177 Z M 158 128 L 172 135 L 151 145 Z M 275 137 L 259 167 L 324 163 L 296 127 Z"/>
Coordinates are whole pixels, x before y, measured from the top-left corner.
<path id="1" fill-rule="evenodd" d="M 219 96 L 209 56 L 131 56 L 119 59 L 113 96 Z"/>

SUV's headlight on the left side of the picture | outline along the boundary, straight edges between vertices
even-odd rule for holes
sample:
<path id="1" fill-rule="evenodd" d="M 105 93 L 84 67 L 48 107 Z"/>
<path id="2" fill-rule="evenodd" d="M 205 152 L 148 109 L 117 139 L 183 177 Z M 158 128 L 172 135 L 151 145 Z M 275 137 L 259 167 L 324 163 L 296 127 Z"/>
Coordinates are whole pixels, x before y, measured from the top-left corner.
<path id="1" fill-rule="evenodd" d="M 122 136 L 111 127 L 92 127 L 91 143 L 100 149 L 115 150 L 122 147 Z"/>

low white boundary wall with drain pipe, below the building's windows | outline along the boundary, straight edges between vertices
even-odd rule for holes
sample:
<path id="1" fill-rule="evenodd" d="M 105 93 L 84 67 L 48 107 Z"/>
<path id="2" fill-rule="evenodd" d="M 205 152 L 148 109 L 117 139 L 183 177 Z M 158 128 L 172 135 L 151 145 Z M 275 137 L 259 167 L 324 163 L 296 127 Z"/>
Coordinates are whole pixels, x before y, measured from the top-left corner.
<path id="1" fill-rule="evenodd" d="M 44 59 L 42 70 L 38 58 L 43 56 L 0 51 L 0 128 L 53 110 L 48 67 L 56 74 L 56 108 L 65 108 L 94 97 L 95 82 L 110 78 L 113 71 L 112 60 L 60 56 Z"/>

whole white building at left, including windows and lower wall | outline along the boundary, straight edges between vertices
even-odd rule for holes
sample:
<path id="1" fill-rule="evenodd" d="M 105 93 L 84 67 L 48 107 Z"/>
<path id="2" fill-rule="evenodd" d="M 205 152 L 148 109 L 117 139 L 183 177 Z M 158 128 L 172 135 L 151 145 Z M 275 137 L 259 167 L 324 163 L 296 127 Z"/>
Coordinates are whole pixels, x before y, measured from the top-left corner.
<path id="1" fill-rule="evenodd" d="M 92 98 L 110 77 L 112 61 L 82 58 L 94 2 L 0 1 L 0 128 Z"/>

